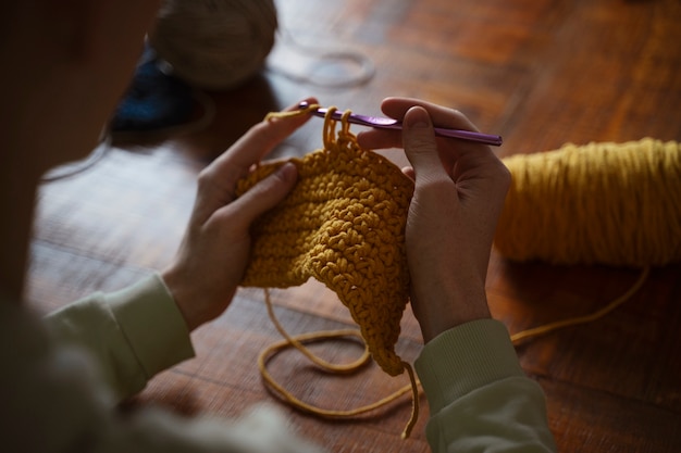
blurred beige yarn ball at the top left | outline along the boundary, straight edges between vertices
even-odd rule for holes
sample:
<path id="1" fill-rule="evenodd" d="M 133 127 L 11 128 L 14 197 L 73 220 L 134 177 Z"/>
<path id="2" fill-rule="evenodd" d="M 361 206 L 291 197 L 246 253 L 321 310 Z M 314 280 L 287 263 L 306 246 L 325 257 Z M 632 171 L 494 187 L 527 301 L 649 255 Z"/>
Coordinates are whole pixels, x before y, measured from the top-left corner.
<path id="1" fill-rule="evenodd" d="M 227 89 L 263 66 L 276 27 L 273 0 L 165 0 L 149 43 L 188 84 Z"/>

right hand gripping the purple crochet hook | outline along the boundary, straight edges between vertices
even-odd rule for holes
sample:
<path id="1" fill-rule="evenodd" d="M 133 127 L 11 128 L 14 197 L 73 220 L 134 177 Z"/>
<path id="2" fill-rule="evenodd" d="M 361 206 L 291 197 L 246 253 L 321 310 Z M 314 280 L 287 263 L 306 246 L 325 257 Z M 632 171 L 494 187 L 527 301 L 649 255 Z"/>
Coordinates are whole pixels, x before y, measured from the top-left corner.
<path id="1" fill-rule="evenodd" d="M 366 148 L 404 148 L 416 180 L 406 241 L 411 304 L 424 341 L 490 317 L 485 278 L 510 174 L 484 144 L 435 137 L 437 126 L 475 130 L 460 112 L 413 99 L 383 101 L 399 131 L 359 135 Z"/>

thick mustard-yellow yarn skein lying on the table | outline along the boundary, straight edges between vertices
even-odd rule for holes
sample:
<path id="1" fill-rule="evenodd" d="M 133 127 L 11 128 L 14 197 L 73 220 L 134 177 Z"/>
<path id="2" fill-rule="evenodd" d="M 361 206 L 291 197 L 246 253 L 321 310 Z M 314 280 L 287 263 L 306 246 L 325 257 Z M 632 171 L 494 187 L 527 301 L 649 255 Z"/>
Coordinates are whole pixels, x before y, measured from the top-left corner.
<path id="1" fill-rule="evenodd" d="M 504 159 L 512 176 L 495 247 L 512 261 L 661 266 L 681 261 L 681 146 L 652 138 Z"/>

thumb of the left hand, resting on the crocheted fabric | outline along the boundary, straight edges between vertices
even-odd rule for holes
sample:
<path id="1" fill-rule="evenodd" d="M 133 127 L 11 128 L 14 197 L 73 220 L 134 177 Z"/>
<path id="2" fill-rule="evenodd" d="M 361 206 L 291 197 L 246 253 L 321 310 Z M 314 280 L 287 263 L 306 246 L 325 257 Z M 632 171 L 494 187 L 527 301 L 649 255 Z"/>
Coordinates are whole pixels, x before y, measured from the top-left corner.
<path id="1" fill-rule="evenodd" d="M 298 168 L 288 162 L 272 175 L 260 180 L 230 205 L 226 212 L 237 213 L 231 218 L 232 226 L 247 230 L 260 215 L 278 204 L 296 185 Z"/>

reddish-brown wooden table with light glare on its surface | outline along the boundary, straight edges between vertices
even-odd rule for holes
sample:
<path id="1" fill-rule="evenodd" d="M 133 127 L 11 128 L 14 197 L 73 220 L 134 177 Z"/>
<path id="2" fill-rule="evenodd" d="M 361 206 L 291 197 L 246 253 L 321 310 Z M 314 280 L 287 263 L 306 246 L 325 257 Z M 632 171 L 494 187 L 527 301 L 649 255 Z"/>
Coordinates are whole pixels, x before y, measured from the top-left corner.
<path id="1" fill-rule="evenodd" d="M 380 113 L 387 96 L 456 106 L 481 130 L 504 136 L 499 155 L 568 141 L 681 140 L 678 0 L 287 0 L 278 7 L 285 33 L 269 67 L 238 89 L 210 93 L 218 111 L 208 128 L 114 147 L 87 172 L 44 187 L 28 279 L 34 306 L 46 312 L 162 268 L 183 234 L 200 168 L 264 113 L 308 95 L 368 114 Z M 325 63 L 309 46 L 361 56 L 375 74 L 354 85 L 361 67 Z M 349 85 L 329 84 L 338 73 L 347 74 Z M 275 155 L 318 148 L 320 126 L 312 119 Z M 592 312 L 624 292 L 639 273 L 513 264 L 494 253 L 490 305 L 515 332 Z M 523 368 L 546 392 L 561 451 L 681 451 L 680 276 L 679 265 L 654 268 L 643 288 L 607 317 L 518 347 Z M 352 325 L 320 284 L 272 295 L 290 332 Z M 421 338 L 409 311 L 403 324 L 397 349 L 413 360 Z M 278 404 L 256 365 L 258 353 L 280 339 L 261 290 L 239 291 L 227 312 L 193 339 L 197 357 L 159 375 L 136 403 L 221 416 L 253 402 Z M 337 360 L 359 353 L 347 342 L 314 349 Z M 296 394 L 326 407 L 367 403 L 406 383 L 375 366 L 330 378 L 293 352 L 271 365 Z M 350 421 L 282 407 L 304 435 L 332 451 L 411 452 L 429 450 L 421 402 L 421 419 L 406 441 L 399 435 L 408 399 Z"/>

